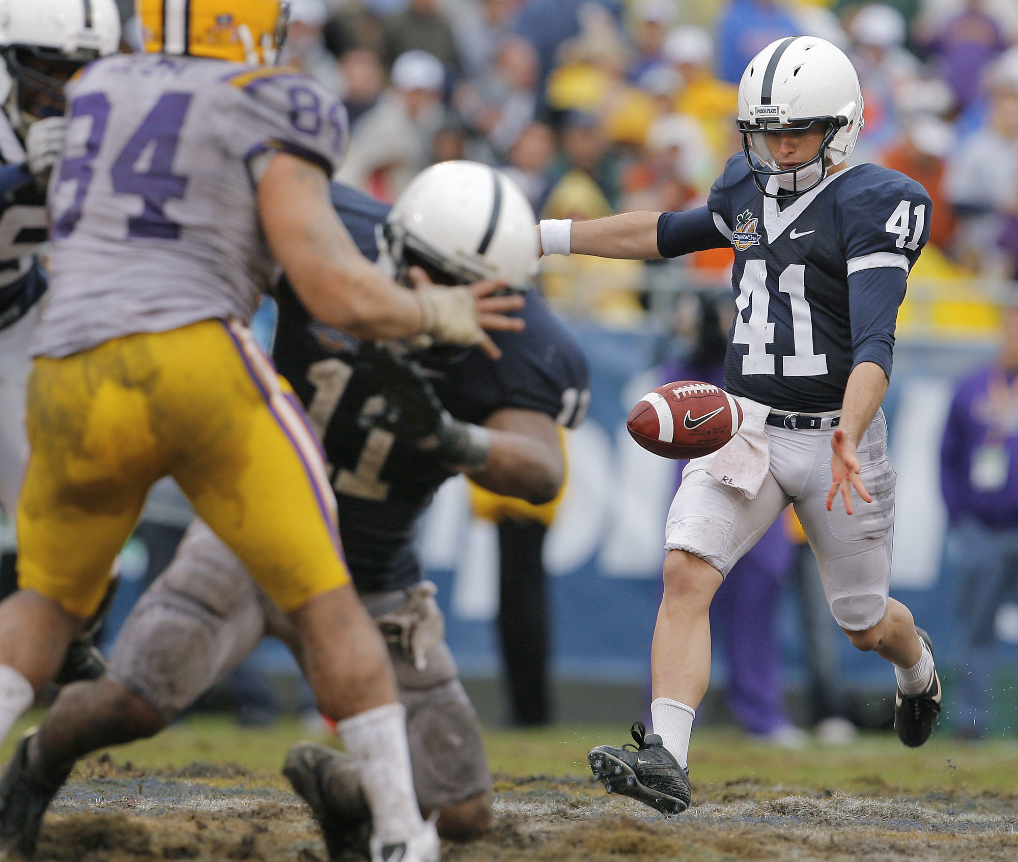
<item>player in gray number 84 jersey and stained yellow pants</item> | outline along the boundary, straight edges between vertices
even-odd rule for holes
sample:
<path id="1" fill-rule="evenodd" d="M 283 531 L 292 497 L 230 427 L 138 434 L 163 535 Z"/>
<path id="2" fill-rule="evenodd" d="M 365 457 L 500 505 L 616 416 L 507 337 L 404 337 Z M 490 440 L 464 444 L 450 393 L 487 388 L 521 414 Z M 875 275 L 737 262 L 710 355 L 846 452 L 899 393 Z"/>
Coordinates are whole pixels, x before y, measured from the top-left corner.
<path id="1" fill-rule="evenodd" d="M 319 707 L 356 758 L 373 857 L 432 862 L 405 710 L 350 584 L 325 465 L 246 323 L 276 262 L 317 318 L 367 338 L 497 354 L 480 325 L 519 329 L 501 312 L 521 302 L 490 296 L 497 282 L 437 290 L 420 276 L 431 289 L 409 291 L 357 251 L 329 202 L 342 105 L 306 76 L 258 66 L 278 49 L 278 0 L 139 9 L 150 53 L 98 60 L 67 87 L 19 590 L 0 604 L 0 739 L 100 605 L 147 492 L 172 475 L 290 615 Z M 14 772 L 26 759 L 22 743 Z M 0 786 L 0 843 L 31 853 L 35 797 L 16 784 Z"/>

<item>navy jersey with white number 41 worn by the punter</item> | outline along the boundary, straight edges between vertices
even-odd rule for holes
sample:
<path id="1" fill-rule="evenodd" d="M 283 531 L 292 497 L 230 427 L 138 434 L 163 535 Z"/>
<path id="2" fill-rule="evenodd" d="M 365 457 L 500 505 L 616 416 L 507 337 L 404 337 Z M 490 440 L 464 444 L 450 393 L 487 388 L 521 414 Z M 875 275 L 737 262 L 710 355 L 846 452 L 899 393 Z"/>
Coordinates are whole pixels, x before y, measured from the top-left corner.
<path id="1" fill-rule="evenodd" d="M 904 275 L 929 236 L 921 185 L 858 165 L 786 203 L 760 193 L 740 153 L 708 208 L 735 249 L 728 391 L 780 410 L 840 409 L 854 364 L 868 358 L 857 358 L 859 347 L 874 337 L 886 342 L 890 375 Z M 889 270 L 898 272 L 881 276 Z"/>

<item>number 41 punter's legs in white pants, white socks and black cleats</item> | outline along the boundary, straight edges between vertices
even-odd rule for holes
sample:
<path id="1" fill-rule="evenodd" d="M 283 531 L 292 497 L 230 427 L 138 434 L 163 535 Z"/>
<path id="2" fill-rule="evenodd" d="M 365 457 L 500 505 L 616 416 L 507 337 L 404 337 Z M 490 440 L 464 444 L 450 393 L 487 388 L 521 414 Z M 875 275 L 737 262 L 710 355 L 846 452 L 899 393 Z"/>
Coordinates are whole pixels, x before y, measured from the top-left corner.
<path id="1" fill-rule="evenodd" d="M 666 814 L 689 805 L 692 722 L 711 677 L 709 609 L 738 559 L 789 502 L 816 555 L 831 612 L 859 649 L 894 665 L 898 735 L 906 745 L 928 739 L 940 709 L 940 682 L 925 633 L 901 602 L 889 599 L 894 527 L 894 470 L 879 412 L 858 452 L 872 503 L 853 499 L 854 515 L 828 512 L 831 432 L 769 426 L 770 471 L 756 496 L 710 476 L 711 459 L 691 461 L 669 512 L 665 594 L 652 649 L 654 734 L 633 726 L 636 748 L 598 746 L 588 760 L 609 792 L 639 799 Z"/>

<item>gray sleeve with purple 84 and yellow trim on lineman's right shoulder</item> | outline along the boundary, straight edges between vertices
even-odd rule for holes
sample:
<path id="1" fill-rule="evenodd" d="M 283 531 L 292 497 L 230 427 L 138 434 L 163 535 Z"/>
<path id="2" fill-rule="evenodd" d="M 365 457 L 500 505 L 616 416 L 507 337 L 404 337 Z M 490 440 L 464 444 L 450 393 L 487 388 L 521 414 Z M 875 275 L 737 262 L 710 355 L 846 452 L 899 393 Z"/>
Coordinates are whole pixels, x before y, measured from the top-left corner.
<path id="1" fill-rule="evenodd" d="M 294 71 L 259 69 L 230 78 L 242 92 L 229 146 L 250 163 L 261 153 L 298 156 L 332 177 L 349 139 L 346 109 L 318 81 Z"/>

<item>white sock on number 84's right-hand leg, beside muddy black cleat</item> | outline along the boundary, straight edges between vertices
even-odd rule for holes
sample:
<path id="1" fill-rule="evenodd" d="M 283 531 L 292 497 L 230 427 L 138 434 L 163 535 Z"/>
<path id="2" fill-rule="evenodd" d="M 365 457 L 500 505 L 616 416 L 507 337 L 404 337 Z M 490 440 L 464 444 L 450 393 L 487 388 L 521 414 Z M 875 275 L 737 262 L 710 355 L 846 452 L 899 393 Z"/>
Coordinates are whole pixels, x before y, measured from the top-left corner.
<path id="1" fill-rule="evenodd" d="M 410 773 L 406 710 L 387 703 L 344 719 L 337 725 L 347 750 L 357 761 L 360 787 L 382 844 L 399 844 L 423 827 Z"/>

